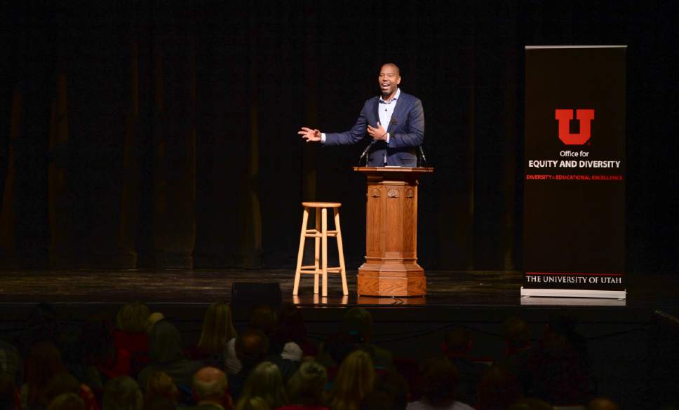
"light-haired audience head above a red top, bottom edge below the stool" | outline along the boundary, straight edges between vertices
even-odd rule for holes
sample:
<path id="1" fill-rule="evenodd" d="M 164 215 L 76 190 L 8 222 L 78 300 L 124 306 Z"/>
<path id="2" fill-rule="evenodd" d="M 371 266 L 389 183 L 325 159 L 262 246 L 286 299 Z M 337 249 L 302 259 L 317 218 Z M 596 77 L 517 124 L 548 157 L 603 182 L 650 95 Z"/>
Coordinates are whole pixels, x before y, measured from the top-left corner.
<path id="1" fill-rule="evenodd" d="M 328 374 L 325 367 L 317 362 L 304 362 L 288 380 L 290 403 L 304 406 L 319 406 L 323 402 Z"/>

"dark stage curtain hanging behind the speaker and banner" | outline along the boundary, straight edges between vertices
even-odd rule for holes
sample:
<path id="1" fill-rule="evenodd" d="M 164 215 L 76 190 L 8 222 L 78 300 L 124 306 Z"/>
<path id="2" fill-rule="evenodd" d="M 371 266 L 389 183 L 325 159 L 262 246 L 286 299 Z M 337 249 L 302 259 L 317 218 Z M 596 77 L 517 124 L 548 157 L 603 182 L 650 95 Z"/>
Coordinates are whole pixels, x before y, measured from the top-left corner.
<path id="1" fill-rule="evenodd" d="M 365 245 L 346 130 L 383 62 L 424 104 L 419 257 L 521 268 L 523 47 L 628 44 L 628 267 L 679 267 L 677 36 L 664 1 L 16 2 L 0 119 L 2 266 L 292 268 L 302 200 Z"/>

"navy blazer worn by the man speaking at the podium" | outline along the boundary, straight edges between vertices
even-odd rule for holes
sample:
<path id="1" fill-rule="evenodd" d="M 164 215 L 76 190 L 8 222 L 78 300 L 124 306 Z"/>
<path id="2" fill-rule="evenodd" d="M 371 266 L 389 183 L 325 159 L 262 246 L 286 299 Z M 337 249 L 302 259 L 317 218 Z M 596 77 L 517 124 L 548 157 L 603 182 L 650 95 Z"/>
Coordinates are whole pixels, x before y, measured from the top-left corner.
<path id="1" fill-rule="evenodd" d="M 325 145 L 349 145 L 356 144 L 363 137 L 368 136 L 366 131 L 368 124 L 377 127 L 379 122 L 379 96 L 365 101 L 361 115 L 356 123 L 347 132 L 328 132 L 325 134 Z M 368 166 L 398 165 L 401 167 L 417 167 L 417 154 L 415 149 L 424 142 L 424 109 L 422 102 L 417 97 L 403 93 L 396 100 L 394 114 L 391 114 L 389 127 L 382 124 L 389 132 L 389 144 L 385 141 L 377 141 L 370 149 Z"/>

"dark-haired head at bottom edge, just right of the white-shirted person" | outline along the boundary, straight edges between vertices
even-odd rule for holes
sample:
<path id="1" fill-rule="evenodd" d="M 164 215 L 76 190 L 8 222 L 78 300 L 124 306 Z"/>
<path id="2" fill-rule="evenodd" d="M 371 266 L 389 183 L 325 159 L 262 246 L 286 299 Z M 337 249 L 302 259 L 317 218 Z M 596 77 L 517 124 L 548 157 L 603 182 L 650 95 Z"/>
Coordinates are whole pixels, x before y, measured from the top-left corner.
<path id="1" fill-rule="evenodd" d="M 478 382 L 477 410 L 506 409 L 521 398 L 516 377 L 504 367 L 486 369 Z"/>

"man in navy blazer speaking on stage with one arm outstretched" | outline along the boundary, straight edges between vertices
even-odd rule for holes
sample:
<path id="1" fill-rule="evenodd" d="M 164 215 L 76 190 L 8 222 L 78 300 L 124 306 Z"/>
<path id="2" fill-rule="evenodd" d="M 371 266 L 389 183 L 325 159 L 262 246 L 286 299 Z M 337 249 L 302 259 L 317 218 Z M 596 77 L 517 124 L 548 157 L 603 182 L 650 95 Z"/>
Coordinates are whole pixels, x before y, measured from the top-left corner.
<path id="1" fill-rule="evenodd" d="M 325 133 L 302 127 L 297 134 L 302 135 L 307 142 L 348 145 L 356 144 L 367 133 L 372 138 L 364 151 L 364 154 L 368 154 L 368 166 L 417 167 L 415 151 L 424 141 L 422 102 L 398 88 L 401 70 L 396 64 L 384 64 L 379 70 L 377 82 L 382 95 L 365 101 L 351 130 Z"/>

